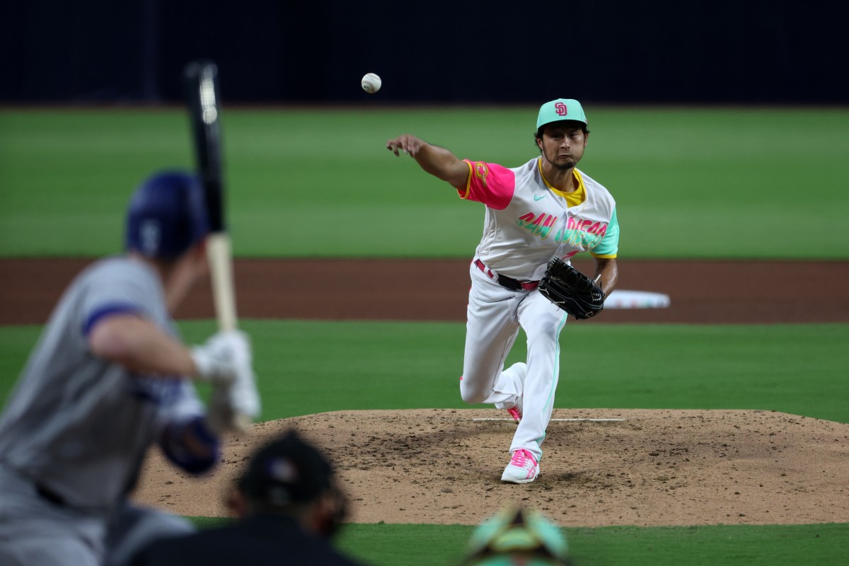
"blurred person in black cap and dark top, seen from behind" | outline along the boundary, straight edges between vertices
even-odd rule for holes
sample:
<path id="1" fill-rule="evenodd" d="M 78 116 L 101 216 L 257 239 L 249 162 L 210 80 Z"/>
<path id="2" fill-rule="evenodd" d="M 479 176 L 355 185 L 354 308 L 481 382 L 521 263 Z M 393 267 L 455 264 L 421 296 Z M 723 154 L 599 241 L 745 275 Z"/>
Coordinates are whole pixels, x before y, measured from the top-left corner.
<path id="1" fill-rule="evenodd" d="M 229 505 L 233 524 L 156 541 L 132 566 L 355 564 L 330 544 L 346 511 L 333 468 L 294 431 L 251 457 Z"/>

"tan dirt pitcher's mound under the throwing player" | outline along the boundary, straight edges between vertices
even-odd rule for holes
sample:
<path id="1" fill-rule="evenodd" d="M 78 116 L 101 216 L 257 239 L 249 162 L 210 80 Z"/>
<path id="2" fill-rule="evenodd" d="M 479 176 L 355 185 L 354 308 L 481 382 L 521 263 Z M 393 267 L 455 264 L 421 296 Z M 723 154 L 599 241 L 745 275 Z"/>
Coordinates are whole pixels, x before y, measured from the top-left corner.
<path id="1" fill-rule="evenodd" d="M 479 524 L 505 503 L 561 525 L 849 522 L 849 425 L 780 412 L 558 409 L 541 475 L 503 484 L 516 425 L 494 409 L 328 412 L 231 437 L 214 475 L 152 454 L 138 502 L 192 516 L 261 444 L 295 428 L 335 462 L 358 523 Z M 503 419 L 503 420 L 502 420 Z"/>

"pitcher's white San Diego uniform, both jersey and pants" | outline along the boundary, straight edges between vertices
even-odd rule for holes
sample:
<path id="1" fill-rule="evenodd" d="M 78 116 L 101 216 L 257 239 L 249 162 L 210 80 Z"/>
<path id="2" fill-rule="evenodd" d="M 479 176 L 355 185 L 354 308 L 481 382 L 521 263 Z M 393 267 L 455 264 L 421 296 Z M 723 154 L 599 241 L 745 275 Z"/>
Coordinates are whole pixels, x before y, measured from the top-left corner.
<path id="1" fill-rule="evenodd" d="M 554 409 L 559 380 L 559 333 L 566 313 L 545 298 L 535 282 L 548 261 L 583 251 L 615 258 L 619 245 L 616 202 L 607 189 L 573 170 L 577 189 L 563 193 L 543 177 L 539 158 L 508 169 L 469 164 L 461 198 L 486 205 L 483 237 L 469 266 L 466 345 L 460 395 L 469 403 L 499 409 L 523 406 L 510 452 L 524 449 L 536 462 Z M 493 273 L 494 272 L 494 273 Z M 512 289 L 512 277 L 528 283 Z M 519 333 L 527 336 L 527 359 L 504 368 Z"/>

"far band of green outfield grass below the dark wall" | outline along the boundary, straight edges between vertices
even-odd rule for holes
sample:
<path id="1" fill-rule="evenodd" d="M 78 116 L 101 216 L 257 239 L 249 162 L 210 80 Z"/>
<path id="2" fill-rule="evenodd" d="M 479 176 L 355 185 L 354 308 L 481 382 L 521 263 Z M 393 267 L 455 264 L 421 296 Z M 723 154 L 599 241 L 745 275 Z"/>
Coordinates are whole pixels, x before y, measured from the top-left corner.
<path id="1" fill-rule="evenodd" d="M 849 257 L 849 110 L 587 110 L 580 166 L 617 199 L 621 257 Z M 530 107 L 225 109 L 235 253 L 465 257 L 481 206 L 385 141 L 413 132 L 515 166 L 537 154 L 535 120 Z M 120 249 L 132 188 L 191 152 L 180 109 L 0 109 L 0 256 Z"/>

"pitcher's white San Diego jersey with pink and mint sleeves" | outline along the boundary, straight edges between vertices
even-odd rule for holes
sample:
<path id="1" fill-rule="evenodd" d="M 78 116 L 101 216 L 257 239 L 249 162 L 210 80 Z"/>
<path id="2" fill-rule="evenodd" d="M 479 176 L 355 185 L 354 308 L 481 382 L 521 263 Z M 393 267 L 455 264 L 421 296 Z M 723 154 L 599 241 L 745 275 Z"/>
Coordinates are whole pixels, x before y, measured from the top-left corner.
<path id="1" fill-rule="evenodd" d="M 568 259 L 589 251 L 615 258 L 619 223 L 607 189 L 574 169 L 578 188 L 563 193 L 543 177 L 540 159 L 512 169 L 465 160 L 471 171 L 459 196 L 486 205 L 476 256 L 492 271 L 522 281 L 541 279 L 554 255 Z"/>

